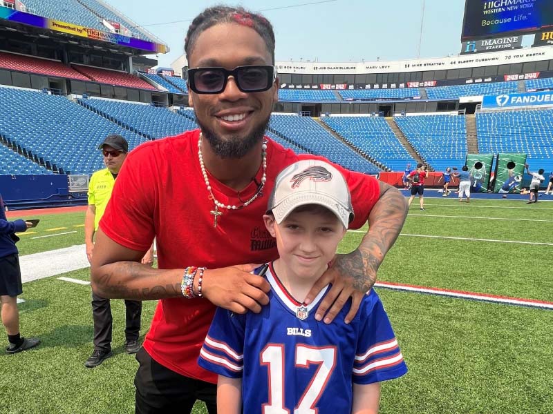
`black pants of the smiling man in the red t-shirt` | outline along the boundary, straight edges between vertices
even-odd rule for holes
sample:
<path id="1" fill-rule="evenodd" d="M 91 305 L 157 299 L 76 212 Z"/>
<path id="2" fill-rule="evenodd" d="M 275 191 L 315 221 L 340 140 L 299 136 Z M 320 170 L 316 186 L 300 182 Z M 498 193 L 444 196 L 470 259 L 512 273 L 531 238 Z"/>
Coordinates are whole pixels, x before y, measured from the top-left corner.
<path id="1" fill-rule="evenodd" d="M 196 400 L 205 402 L 209 414 L 217 413 L 217 386 L 185 377 L 156 362 L 140 348 L 140 367 L 134 378 L 135 414 L 189 414 Z"/>

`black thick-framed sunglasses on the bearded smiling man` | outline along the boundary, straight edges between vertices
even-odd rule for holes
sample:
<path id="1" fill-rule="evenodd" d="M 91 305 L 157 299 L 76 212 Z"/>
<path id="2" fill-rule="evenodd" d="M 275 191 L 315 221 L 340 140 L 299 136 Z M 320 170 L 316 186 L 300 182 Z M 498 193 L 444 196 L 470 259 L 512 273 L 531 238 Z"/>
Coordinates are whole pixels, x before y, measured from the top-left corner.
<path id="1" fill-rule="evenodd" d="M 263 92 L 272 87 L 274 79 L 277 79 L 277 70 L 274 66 L 266 65 L 236 66 L 233 70 L 189 69 L 189 88 L 196 93 L 221 93 L 227 87 L 229 76 L 234 78 L 236 86 L 242 92 Z"/>

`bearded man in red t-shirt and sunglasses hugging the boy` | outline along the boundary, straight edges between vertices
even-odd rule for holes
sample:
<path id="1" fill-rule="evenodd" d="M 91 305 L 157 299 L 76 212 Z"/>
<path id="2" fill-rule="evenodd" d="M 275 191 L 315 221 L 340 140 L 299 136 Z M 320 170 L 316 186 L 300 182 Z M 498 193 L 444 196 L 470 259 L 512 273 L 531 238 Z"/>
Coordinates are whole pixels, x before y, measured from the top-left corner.
<path id="1" fill-rule="evenodd" d="M 264 137 L 278 100 L 274 33 L 243 8 L 216 6 L 185 40 L 189 104 L 200 130 L 142 144 L 118 176 L 100 221 L 91 270 L 95 293 L 161 299 L 137 359 L 136 413 L 216 413 L 216 375 L 197 364 L 215 306 L 259 313 L 270 286 L 250 273 L 277 258 L 263 214 L 277 174 L 302 157 Z M 359 247 L 337 255 L 306 303 L 332 288 L 316 318 L 350 322 L 406 217 L 404 198 L 374 177 L 337 166 L 352 195 L 350 228 L 370 226 Z M 140 264 L 156 237 L 158 269 Z M 351 302 L 348 302 L 351 298 Z"/>

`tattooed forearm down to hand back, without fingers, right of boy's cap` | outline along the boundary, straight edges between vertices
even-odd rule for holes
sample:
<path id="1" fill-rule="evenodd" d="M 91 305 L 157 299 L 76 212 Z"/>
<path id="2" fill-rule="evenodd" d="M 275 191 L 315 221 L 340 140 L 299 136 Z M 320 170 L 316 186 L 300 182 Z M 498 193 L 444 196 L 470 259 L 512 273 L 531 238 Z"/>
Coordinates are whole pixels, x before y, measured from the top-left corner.
<path id="1" fill-rule="evenodd" d="M 407 204 L 396 188 L 379 181 L 380 197 L 368 216 L 368 232 L 359 247 L 337 262 L 342 275 L 355 279 L 355 288 L 366 292 L 376 282 L 377 270 L 384 256 L 400 235 Z"/>

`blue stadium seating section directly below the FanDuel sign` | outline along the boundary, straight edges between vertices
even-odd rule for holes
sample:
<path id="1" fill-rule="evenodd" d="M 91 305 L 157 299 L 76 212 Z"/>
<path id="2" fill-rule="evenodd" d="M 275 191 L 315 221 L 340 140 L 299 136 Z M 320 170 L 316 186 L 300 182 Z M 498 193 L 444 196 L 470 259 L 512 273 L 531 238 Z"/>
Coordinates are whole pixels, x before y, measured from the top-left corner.
<path id="1" fill-rule="evenodd" d="M 525 152 L 532 171 L 553 170 L 553 110 L 478 112 L 480 152 Z"/>

